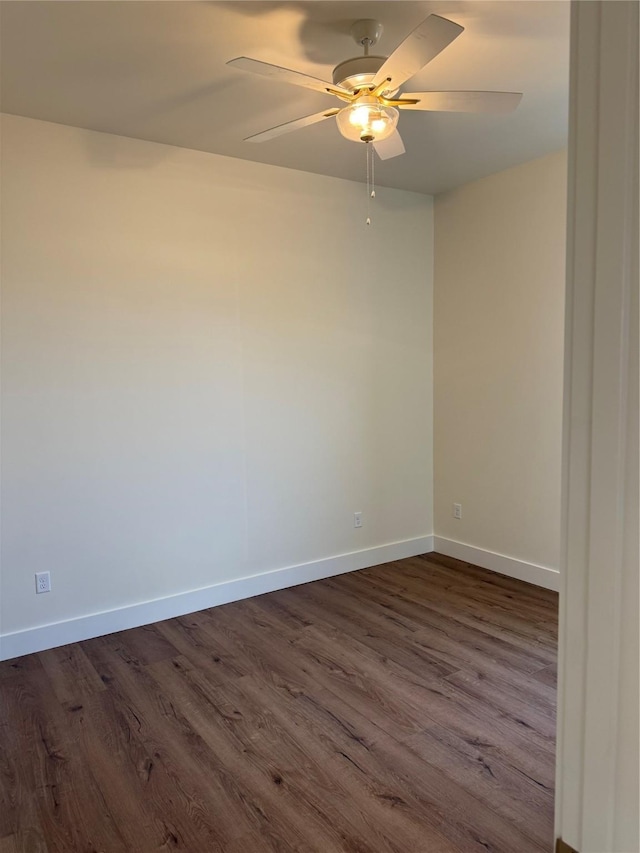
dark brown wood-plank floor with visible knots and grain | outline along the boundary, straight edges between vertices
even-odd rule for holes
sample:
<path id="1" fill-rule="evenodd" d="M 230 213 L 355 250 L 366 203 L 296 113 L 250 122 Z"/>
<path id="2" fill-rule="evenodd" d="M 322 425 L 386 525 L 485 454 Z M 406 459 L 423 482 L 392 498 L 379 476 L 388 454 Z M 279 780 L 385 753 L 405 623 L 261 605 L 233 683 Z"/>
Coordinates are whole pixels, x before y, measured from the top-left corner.
<path id="1" fill-rule="evenodd" d="M 0 853 L 548 853 L 556 623 L 430 554 L 6 661 Z"/>

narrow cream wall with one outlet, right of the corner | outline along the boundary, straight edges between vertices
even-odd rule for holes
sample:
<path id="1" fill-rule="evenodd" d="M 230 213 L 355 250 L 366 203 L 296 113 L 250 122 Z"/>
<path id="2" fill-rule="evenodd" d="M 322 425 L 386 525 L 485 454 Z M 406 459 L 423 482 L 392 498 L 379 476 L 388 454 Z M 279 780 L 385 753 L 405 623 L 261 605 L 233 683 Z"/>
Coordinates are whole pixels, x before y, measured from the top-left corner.
<path id="1" fill-rule="evenodd" d="M 435 202 L 435 546 L 552 587 L 565 218 L 564 152 Z"/>

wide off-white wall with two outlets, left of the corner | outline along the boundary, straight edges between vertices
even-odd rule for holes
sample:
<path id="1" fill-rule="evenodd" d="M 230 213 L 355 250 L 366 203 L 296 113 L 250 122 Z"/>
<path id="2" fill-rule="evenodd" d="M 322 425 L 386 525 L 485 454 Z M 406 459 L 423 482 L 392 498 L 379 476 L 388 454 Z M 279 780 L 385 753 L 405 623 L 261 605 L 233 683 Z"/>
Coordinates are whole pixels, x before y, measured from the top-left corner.
<path id="1" fill-rule="evenodd" d="M 2 182 L 4 656 L 427 550 L 430 198 L 15 116 Z"/>

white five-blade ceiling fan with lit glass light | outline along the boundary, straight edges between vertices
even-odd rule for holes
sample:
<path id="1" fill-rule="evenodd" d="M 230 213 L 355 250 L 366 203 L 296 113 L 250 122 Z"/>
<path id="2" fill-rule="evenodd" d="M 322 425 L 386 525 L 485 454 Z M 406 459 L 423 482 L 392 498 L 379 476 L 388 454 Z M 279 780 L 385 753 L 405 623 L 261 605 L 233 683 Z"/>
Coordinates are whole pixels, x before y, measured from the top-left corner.
<path id="1" fill-rule="evenodd" d="M 266 142 L 335 116 L 340 133 L 354 142 L 371 142 L 383 160 L 397 157 L 405 151 L 397 130 L 398 110 L 445 112 L 507 113 L 514 110 L 522 98 L 517 92 L 412 92 L 398 95 L 401 86 L 427 63 L 431 62 L 464 30 L 459 24 L 429 15 L 391 56 L 372 56 L 369 49 L 381 34 L 382 25 L 375 20 L 356 21 L 351 35 L 362 45 L 364 55 L 340 62 L 333 69 L 333 82 L 327 83 L 300 71 L 281 68 L 258 59 L 239 56 L 227 65 L 251 71 L 283 83 L 293 83 L 316 92 L 335 95 L 347 103 L 313 115 L 288 121 L 253 134 L 247 142 Z"/>

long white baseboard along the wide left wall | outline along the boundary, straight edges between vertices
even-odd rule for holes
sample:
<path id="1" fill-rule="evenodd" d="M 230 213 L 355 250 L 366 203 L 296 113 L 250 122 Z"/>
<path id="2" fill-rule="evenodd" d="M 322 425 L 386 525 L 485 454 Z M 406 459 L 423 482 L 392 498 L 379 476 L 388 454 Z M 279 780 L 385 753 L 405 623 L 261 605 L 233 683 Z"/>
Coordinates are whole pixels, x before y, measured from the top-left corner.
<path id="1" fill-rule="evenodd" d="M 417 539 L 406 539 L 401 542 L 391 542 L 375 548 L 362 551 L 352 551 L 339 554 L 324 560 L 314 560 L 297 566 L 287 566 L 258 575 L 238 578 L 233 581 L 214 584 L 203 589 L 181 592 L 166 598 L 143 601 L 131 604 L 117 610 L 92 613 L 0 635 L 0 660 L 20 657 L 21 655 L 65 646 L 67 643 L 77 643 L 115 631 L 125 631 L 128 628 L 139 628 L 151 622 L 171 619 L 174 616 L 184 616 L 207 607 L 239 601 L 265 592 L 274 592 L 309 581 L 354 572 L 388 563 L 392 560 L 402 560 L 406 557 L 417 557 L 433 551 L 433 536 L 421 536 Z"/>

